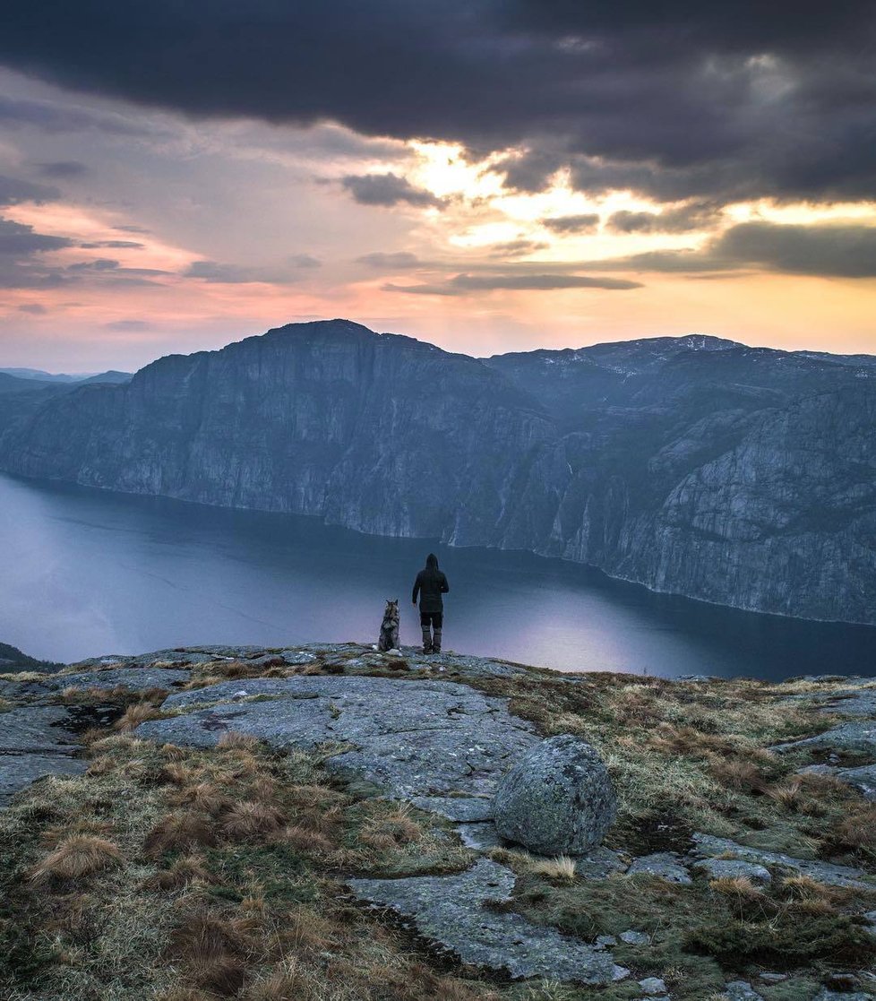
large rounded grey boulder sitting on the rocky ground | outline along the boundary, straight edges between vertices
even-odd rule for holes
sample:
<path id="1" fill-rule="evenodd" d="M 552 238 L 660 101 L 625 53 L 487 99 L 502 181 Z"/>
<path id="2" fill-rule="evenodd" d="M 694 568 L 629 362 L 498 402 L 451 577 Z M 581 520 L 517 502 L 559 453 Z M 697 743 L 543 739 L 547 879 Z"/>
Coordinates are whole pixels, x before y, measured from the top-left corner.
<path id="1" fill-rule="evenodd" d="M 542 741 L 499 782 L 496 828 L 539 855 L 584 855 L 598 845 L 617 814 L 602 759 L 577 737 Z"/>

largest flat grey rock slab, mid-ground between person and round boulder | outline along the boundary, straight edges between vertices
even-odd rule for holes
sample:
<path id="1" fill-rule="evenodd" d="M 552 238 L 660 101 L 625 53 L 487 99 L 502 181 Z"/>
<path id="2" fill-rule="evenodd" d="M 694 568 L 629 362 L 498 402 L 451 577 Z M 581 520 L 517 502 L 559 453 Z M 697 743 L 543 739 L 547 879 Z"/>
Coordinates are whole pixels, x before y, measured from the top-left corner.
<path id="1" fill-rule="evenodd" d="M 504 699 L 451 682 L 296 676 L 222 682 L 171 695 L 170 719 L 137 736 L 212 747 L 228 731 L 288 750 L 349 745 L 327 761 L 401 799 L 492 795 L 510 764 L 538 743 Z"/>

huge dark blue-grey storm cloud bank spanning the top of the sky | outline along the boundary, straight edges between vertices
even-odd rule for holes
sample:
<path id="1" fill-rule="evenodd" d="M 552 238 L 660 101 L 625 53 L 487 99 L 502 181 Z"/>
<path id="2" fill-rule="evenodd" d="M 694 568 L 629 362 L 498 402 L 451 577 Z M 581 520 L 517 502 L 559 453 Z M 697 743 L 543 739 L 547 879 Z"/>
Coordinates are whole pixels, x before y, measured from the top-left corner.
<path id="1" fill-rule="evenodd" d="M 503 169 L 528 190 L 568 165 L 667 201 L 855 198 L 876 190 L 874 22 L 871 0 L 7 0 L 0 60 L 186 113 L 527 146 Z M 55 129 L 77 110 L 12 105 Z"/>

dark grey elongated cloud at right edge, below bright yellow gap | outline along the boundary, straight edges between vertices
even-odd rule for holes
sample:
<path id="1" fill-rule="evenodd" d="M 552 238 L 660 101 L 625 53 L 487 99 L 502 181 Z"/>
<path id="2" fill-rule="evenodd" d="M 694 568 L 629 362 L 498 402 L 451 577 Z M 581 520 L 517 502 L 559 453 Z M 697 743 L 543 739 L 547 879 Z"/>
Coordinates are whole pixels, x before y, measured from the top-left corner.
<path id="1" fill-rule="evenodd" d="M 608 271 L 708 272 L 756 268 L 781 274 L 876 277 L 876 226 L 742 222 L 701 250 L 652 250 L 582 267 Z"/>

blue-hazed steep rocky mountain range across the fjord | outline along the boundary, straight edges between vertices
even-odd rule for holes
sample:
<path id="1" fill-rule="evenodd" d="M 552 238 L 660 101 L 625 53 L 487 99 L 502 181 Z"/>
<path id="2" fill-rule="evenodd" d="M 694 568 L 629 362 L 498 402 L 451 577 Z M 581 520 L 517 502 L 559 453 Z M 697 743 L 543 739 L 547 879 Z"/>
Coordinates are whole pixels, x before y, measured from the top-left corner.
<path id="1" fill-rule="evenodd" d="M 476 359 L 290 324 L 45 399 L 0 466 L 876 623 L 873 360 L 704 335 Z"/>

